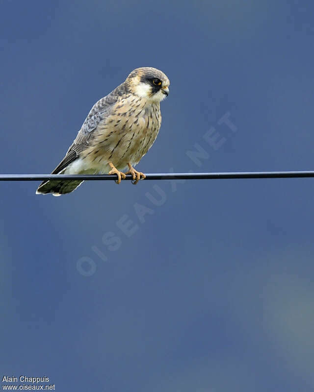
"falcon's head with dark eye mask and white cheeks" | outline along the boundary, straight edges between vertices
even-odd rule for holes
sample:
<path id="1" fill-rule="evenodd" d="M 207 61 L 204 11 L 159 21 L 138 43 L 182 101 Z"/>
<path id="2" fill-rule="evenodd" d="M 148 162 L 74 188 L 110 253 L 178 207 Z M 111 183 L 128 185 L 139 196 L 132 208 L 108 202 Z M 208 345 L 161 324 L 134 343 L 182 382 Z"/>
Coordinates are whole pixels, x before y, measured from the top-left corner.
<path id="1" fill-rule="evenodd" d="M 127 77 L 131 92 L 141 98 L 160 102 L 169 94 L 169 79 L 156 68 L 136 68 Z"/>

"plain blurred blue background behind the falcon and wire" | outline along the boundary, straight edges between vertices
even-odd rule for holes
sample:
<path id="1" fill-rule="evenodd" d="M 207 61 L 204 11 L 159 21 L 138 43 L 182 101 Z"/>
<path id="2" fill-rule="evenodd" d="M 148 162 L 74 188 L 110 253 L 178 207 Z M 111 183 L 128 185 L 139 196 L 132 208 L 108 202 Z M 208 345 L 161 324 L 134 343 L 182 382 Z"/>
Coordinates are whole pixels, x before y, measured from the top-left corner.
<path id="1" fill-rule="evenodd" d="M 4 0 L 1 172 L 51 172 L 143 66 L 171 86 L 140 171 L 313 169 L 313 11 Z M 0 184 L 3 375 L 57 391 L 313 390 L 312 179 L 36 186 Z"/>

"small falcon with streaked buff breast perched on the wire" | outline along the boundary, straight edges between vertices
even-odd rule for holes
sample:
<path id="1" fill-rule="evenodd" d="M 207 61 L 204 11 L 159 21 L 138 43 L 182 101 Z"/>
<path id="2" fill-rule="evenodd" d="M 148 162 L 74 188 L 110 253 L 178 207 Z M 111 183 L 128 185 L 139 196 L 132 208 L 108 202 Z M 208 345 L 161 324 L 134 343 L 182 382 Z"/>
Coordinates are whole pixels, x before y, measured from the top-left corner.
<path id="1" fill-rule="evenodd" d="M 117 184 L 132 175 L 133 184 L 145 179 L 134 167 L 155 142 L 160 125 L 160 101 L 170 81 L 153 67 L 133 70 L 111 93 L 97 101 L 65 157 L 52 174 L 116 174 Z M 128 172 L 123 172 L 127 169 Z M 73 192 L 82 180 L 46 180 L 36 194 L 60 196 Z"/>

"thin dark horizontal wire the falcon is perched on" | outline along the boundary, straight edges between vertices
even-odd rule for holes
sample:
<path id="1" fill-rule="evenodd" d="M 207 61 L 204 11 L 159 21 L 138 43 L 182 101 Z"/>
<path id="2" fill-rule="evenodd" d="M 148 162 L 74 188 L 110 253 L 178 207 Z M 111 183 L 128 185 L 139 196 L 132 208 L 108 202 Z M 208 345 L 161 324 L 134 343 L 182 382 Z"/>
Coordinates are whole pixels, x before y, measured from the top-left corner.
<path id="1" fill-rule="evenodd" d="M 209 180 L 231 178 L 304 178 L 314 177 L 314 171 L 304 172 L 224 172 L 224 173 L 151 173 L 145 180 Z M 0 181 L 44 181 L 44 180 L 116 180 L 109 174 L 0 174 Z M 131 174 L 127 174 L 131 180 Z"/>

